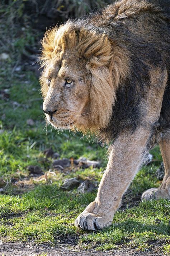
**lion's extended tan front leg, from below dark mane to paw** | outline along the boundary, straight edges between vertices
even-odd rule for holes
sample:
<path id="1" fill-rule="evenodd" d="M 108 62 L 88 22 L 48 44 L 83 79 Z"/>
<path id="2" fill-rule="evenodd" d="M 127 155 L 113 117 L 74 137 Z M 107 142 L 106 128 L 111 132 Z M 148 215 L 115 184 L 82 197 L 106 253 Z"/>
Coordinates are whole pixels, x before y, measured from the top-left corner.
<path id="1" fill-rule="evenodd" d="M 77 217 L 75 225 L 99 230 L 112 224 L 123 193 L 139 169 L 146 153 L 149 132 L 142 127 L 133 134 L 122 134 L 112 145 L 107 169 L 95 201 Z"/>

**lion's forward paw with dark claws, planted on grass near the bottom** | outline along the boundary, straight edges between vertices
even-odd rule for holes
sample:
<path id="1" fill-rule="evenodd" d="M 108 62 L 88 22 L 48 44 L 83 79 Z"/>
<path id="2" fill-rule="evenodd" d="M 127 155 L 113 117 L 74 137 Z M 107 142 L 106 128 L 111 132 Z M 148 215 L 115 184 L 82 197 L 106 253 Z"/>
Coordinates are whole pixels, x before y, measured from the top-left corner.
<path id="1" fill-rule="evenodd" d="M 100 217 L 90 212 L 82 212 L 76 219 L 75 225 L 84 230 L 101 230 L 107 226 L 110 226 L 112 221 L 106 220 L 104 217 Z"/>

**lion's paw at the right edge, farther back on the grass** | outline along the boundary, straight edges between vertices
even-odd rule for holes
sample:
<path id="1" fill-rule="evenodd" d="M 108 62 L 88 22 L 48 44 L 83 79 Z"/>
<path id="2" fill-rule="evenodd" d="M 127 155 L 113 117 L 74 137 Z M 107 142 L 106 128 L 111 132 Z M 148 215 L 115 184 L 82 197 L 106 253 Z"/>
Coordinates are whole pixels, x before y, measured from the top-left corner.
<path id="1" fill-rule="evenodd" d="M 142 202 L 149 201 L 149 200 L 158 200 L 158 199 L 170 199 L 170 194 L 168 193 L 167 189 L 162 188 L 151 188 L 146 190 L 142 194 Z"/>

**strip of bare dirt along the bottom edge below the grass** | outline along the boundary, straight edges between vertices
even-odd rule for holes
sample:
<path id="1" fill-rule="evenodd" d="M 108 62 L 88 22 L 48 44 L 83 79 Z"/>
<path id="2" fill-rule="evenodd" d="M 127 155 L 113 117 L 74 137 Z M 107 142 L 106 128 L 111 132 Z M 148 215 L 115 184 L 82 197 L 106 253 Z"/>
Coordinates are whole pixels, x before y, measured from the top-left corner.
<path id="1" fill-rule="evenodd" d="M 107 252 L 95 251 L 95 250 L 80 250 L 80 249 L 68 249 L 63 247 L 51 248 L 45 244 L 42 245 L 30 245 L 28 243 L 4 243 L 0 244 L 0 255 L 3 256 L 38 256 L 38 255 L 47 255 L 47 256 L 77 256 L 77 255 L 98 255 L 98 256 L 124 256 L 124 255 L 142 255 L 142 256 L 161 256 L 160 253 L 150 253 L 150 252 L 138 252 L 135 249 L 131 250 L 128 248 L 123 248 L 121 250 L 110 250 Z"/>

